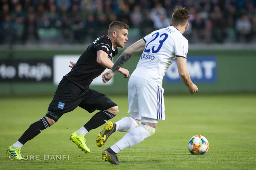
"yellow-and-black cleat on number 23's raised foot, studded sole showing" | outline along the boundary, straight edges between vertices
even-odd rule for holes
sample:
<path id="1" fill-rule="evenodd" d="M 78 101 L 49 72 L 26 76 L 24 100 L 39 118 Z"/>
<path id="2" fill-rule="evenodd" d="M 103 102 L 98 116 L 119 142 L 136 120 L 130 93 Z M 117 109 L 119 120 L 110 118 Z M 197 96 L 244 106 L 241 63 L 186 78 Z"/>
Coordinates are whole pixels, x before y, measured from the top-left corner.
<path id="1" fill-rule="evenodd" d="M 116 131 L 116 124 L 112 121 L 107 122 L 104 129 L 100 132 L 100 134 L 98 134 L 96 138 L 96 145 L 98 147 L 103 146 L 106 143 L 107 138 L 109 138 L 109 136 L 115 131 Z"/>

